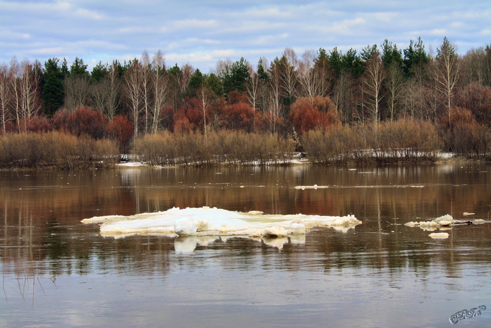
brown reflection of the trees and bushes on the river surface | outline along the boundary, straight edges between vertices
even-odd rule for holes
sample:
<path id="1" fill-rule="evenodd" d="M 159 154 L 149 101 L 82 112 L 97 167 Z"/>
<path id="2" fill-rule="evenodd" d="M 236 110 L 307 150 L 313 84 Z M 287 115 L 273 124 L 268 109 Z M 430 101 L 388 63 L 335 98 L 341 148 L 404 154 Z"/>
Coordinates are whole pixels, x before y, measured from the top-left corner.
<path id="1" fill-rule="evenodd" d="M 438 265 L 444 266 L 450 276 L 458 276 L 461 263 L 490 262 L 486 252 L 464 256 L 458 251 L 468 247 L 489 249 L 487 226 L 454 228 L 448 240 L 434 246 L 421 242 L 418 230 L 408 232 L 404 226 L 390 224 L 436 217 L 449 209 L 454 215 L 464 211 L 487 213 L 491 181 L 477 168 L 486 169 L 474 164 L 473 170 L 467 169 L 470 173 L 457 172 L 466 168 L 455 165 L 364 166 L 357 167 L 357 171 L 347 171 L 346 166 L 3 171 L 1 179 L 11 187 L 0 188 L 1 261 L 9 274 L 21 277 L 85 275 L 95 270 L 165 274 L 174 261 L 172 239 L 103 239 L 95 236 L 97 227 L 79 221 L 94 215 L 207 205 L 282 214 L 353 213 L 363 221 L 347 234 L 316 230 L 308 235 L 305 246 L 287 243 L 281 251 L 251 239 L 217 240 L 196 248 L 213 248 L 224 268 L 247 267 L 258 259 L 267 265 L 280 258 L 288 270 L 316 266 L 326 272 L 387 268 L 397 275 L 411 268 L 425 275 Z M 240 188 L 241 183 L 246 187 Z M 407 187 L 421 183 L 424 188 Z M 330 187 L 293 188 L 313 184 Z M 298 266 L 304 259 L 315 264 Z"/>

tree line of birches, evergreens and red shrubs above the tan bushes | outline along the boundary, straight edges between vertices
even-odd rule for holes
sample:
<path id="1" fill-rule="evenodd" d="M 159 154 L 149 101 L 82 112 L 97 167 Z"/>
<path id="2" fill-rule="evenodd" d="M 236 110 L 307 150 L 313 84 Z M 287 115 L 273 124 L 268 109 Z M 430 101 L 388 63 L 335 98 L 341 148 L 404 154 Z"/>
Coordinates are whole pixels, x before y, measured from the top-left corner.
<path id="1" fill-rule="evenodd" d="M 297 55 L 287 48 L 271 62 L 219 60 L 210 73 L 189 63 L 167 67 L 161 51 L 99 62 L 90 72 L 79 58 L 70 66 L 57 58 L 44 65 L 13 58 L 0 65 L 0 130 L 128 140 L 199 131 L 206 140 L 220 129 L 301 136 L 401 118 L 452 129 L 460 122 L 489 125 L 490 87 L 490 46 L 461 56 L 446 37 L 436 53 L 421 38 L 406 49 L 385 39 L 361 51 Z"/>

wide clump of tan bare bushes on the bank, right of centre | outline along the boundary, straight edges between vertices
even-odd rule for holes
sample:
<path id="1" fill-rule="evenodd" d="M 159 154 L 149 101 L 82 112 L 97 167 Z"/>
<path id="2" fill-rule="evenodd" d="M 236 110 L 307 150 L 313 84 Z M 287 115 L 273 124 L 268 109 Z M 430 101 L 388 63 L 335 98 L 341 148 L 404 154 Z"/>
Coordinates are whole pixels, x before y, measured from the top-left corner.
<path id="1" fill-rule="evenodd" d="M 442 143 L 433 124 L 401 119 L 309 131 L 301 144 L 311 162 L 329 164 L 435 161 Z"/>

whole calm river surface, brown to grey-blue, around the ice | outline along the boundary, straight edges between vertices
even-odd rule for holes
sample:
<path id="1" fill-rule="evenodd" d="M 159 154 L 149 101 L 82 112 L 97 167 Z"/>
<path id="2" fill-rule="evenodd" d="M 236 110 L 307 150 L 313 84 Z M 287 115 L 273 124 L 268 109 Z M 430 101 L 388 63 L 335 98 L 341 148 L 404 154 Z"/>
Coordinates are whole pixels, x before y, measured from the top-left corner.
<path id="1" fill-rule="evenodd" d="M 447 327 L 486 305 L 457 325 L 490 327 L 491 227 L 437 240 L 399 225 L 487 219 L 490 179 L 482 163 L 1 171 L 0 326 Z M 329 188 L 294 188 L 313 184 Z M 103 238 L 80 223 L 173 206 L 363 224 L 315 229 L 281 250 L 233 238 L 186 255 L 172 238 Z"/>

